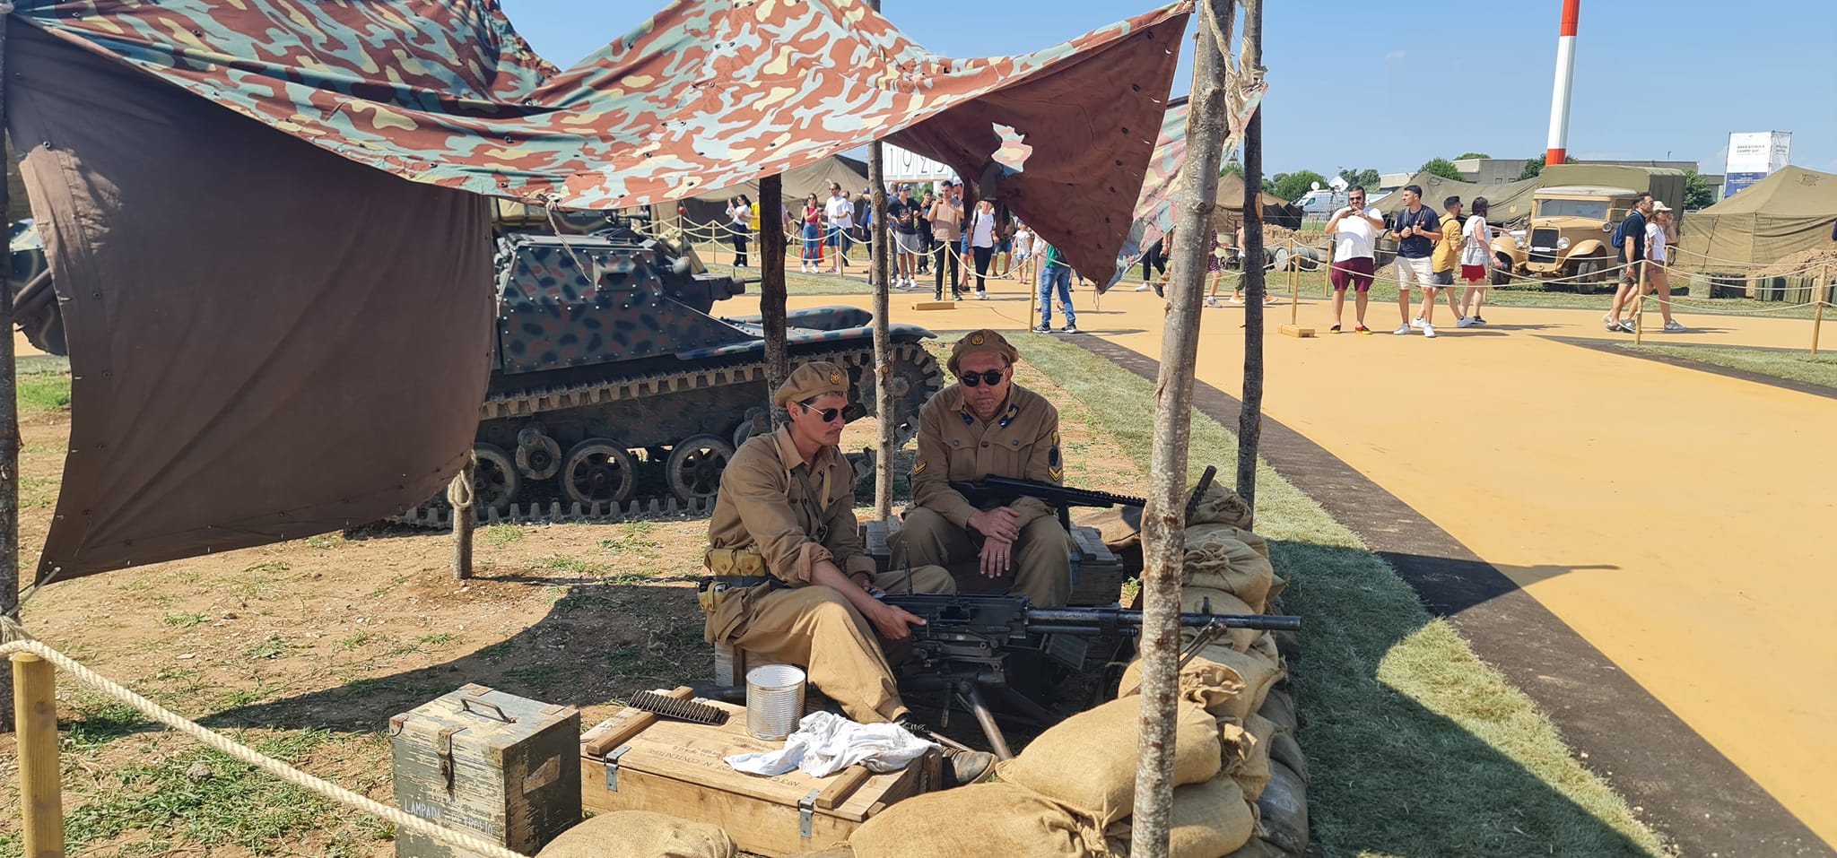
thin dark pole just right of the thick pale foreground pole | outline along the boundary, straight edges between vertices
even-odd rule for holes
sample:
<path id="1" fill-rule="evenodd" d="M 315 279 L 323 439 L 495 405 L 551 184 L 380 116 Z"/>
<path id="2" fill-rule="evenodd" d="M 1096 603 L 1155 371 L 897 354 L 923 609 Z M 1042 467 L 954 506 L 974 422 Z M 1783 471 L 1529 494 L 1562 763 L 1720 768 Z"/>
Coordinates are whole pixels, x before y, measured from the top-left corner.
<path id="1" fill-rule="evenodd" d="M 1245 70 L 1262 68 L 1262 0 L 1244 0 Z M 1238 410 L 1238 494 L 1257 514 L 1257 446 L 1262 441 L 1262 107 L 1244 127 L 1244 408 Z M 1290 255 L 1293 259 L 1293 255 Z"/>

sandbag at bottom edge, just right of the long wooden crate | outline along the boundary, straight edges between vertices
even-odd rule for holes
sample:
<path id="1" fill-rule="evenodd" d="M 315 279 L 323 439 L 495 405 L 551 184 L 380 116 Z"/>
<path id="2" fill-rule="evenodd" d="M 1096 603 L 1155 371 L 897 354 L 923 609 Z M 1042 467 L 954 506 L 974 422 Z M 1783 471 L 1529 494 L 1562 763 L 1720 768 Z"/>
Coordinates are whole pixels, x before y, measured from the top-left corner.
<path id="1" fill-rule="evenodd" d="M 1133 781 L 1130 770 L 1132 786 Z M 1102 830 L 1021 785 L 979 783 L 904 799 L 862 823 L 849 845 L 856 858 L 1099 858 Z"/>

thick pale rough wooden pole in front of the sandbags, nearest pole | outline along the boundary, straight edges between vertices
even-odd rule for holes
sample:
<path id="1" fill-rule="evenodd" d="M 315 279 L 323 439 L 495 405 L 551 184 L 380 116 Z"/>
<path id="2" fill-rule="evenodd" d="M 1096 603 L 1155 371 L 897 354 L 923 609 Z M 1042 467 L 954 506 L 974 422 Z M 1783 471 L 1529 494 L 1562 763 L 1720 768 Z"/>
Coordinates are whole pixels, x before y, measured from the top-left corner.
<path id="1" fill-rule="evenodd" d="M 1148 505 L 1143 509 L 1143 711 L 1141 764 L 1135 768 L 1135 810 L 1130 854 L 1166 858 L 1174 808 L 1174 724 L 1179 658 L 1179 564 L 1187 529 L 1187 446 L 1192 430 L 1192 373 L 1200 355 L 1200 292 L 1211 252 L 1218 162 L 1225 143 L 1225 68 L 1220 50 L 1229 35 L 1233 0 L 1200 0 L 1200 39 L 1187 118 L 1187 164 L 1179 173 L 1179 217 L 1174 228 L 1174 279 L 1155 378 L 1154 450 Z"/>

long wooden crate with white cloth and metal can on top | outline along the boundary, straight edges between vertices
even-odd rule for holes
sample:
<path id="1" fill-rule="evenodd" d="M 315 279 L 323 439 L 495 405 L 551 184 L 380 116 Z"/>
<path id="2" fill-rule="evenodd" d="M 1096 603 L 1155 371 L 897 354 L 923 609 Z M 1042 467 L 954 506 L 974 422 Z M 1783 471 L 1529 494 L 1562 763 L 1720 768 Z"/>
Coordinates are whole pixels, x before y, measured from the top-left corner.
<path id="1" fill-rule="evenodd" d="M 597 812 L 656 810 L 720 825 L 742 851 L 781 856 L 849 840 L 887 805 L 937 788 L 939 753 L 884 775 L 862 766 L 830 777 L 735 772 L 724 757 L 775 751 L 784 742 L 753 739 L 744 706 L 709 706 L 727 711 L 727 722 L 711 728 L 621 709 L 582 735 L 582 803 Z"/>

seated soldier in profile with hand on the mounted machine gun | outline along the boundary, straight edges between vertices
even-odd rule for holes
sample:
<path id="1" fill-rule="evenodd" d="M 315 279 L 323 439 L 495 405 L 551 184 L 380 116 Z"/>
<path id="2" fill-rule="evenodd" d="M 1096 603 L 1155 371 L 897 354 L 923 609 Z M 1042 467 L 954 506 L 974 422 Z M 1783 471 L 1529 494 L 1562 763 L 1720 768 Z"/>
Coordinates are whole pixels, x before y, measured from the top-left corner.
<path id="1" fill-rule="evenodd" d="M 874 593 L 907 586 L 953 593 L 957 584 L 937 566 L 876 573 L 862 549 L 854 472 L 836 448 L 849 406 L 847 371 L 805 364 L 773 402 L 790 421 L 748 439 L 720 476 L 707 527 L 713 575 L 700 590 L 707 641 L 803 667 L 856 722 L 909 724 L 874 636 L 902 641 L 924 621 Z M 974 781 L 992 762 L 986 753 L 959 753 L 952 768 Z"/>

